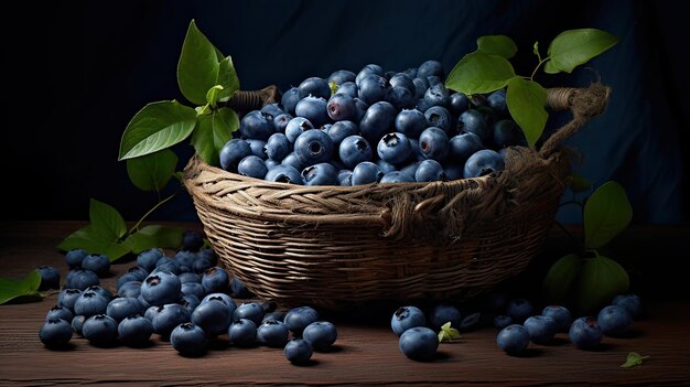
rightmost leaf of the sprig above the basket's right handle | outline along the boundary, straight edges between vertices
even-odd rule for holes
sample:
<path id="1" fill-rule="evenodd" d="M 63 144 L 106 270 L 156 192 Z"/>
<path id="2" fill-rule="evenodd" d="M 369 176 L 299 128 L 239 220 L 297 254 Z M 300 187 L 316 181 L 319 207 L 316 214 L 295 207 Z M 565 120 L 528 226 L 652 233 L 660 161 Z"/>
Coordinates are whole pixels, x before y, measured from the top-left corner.
<path id="1" fill-rule="evenodd" d="M 561 32 L 549 45 L 549 57 L 545 72 L 571 73 L 576 66 L 613 47 L 619 39 L 596 29 L 569 30 Z"/>

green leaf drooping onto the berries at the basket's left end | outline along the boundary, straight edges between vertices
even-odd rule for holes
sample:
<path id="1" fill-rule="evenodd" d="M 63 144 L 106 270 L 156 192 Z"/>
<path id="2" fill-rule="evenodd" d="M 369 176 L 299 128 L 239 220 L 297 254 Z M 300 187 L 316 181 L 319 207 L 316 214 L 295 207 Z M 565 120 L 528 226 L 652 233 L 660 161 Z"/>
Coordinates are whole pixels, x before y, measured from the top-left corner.
<path id="1" fill-rule="evenodd" d="M 220 150 L 239 128 L 239 118 L 233 109 L 220 108 L 211 116 L 200 116 L 197 119 L 192 144 L 205 162 L 218 165 Z"/>

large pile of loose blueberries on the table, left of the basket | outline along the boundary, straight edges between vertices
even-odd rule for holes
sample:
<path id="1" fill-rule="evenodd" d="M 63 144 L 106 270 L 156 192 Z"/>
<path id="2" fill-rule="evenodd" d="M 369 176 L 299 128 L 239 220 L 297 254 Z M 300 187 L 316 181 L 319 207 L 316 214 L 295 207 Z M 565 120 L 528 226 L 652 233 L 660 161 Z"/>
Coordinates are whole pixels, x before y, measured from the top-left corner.
<path id="1" fill-rule="evenodd" d="M 109 272 L 107 257 L 80 249 L 68 251 L 65 258 L 72 270 L 57 295 L 57 305 L 47 312 L 40 329 L 41 342 L 47 347 L 64 347 L 76 333 L 96 346 L 122 343 L 141 347 L 151 345 L 151 336 L 158 334 L 181 355 L 202 356 L 211 340 L 227 334 L 237 347 L 283 348 L 285 357 L 295 364 L 306 363 L 313 351 L 327 351 L 333 345 L 335 325 L 320 320 L 313 308 L 285 313 L 276 311 L 272 302 L 238 304 L 233 297 L 251 293 L 216 266 L 214 251 L 202 246 L 201 236 L 185 234 L 185 249 L 172 257 L 161 249 L 141 252 L 137 266 L 117 279 L 115 292 L 98 283 L 98 275 Z M 46 272 L 44 281 L 51 281 L 54 275 Z"/>

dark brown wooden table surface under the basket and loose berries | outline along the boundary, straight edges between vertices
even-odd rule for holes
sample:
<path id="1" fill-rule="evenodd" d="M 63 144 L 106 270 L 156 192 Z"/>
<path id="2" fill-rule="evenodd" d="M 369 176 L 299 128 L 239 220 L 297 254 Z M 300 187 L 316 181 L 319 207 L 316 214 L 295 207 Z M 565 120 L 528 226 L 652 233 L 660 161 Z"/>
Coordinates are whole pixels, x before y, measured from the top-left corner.
<path id="1" fill-rule="evenodd" d="M 20 278 L 40 265 L 66 273 L 57 243 L 78 228 L 65 222 L 0 222 L 0 277 Z M 195 225 L 188 225 L 194 227 Z M 687 229 L 676 230 L 686 244 Z M 635 238 L 634 238 L 635 239 Z M 116 276 L 131 262 L 114 265 Z M 419 363 L 398 351 L 387 324 L 333 315 L 335 350 L 315 353 L 309 366 L 291 365 L 281 350 L 236 348 L 227 335 L 201 358 L 177 355 L 157 335 L 147 348 L 97 348 L 82 337 L 67 351 L 50 351 L 39 329 L 56 294 L 42 302 L 0 305 L 0 386 L 86 385 L 690 385 L 690 300 L 658 299 L 636 321 L 632 337 L 604 337 L 599 351 L 580 351 L 560 333 L 552 345 L 530 344 L 528 355 L 507 356 L 496 347 L 496 330 L 464 333 L 441 344 L 439 356 Z M 392 308 L 392 307 L 391 307 Z M 392 312 L 392 310 L 390 311 Z M 384 313 L 387 314 L 387 313 Z M 650 355 L 643 366 L 619 368 L 628 352 Z"/>

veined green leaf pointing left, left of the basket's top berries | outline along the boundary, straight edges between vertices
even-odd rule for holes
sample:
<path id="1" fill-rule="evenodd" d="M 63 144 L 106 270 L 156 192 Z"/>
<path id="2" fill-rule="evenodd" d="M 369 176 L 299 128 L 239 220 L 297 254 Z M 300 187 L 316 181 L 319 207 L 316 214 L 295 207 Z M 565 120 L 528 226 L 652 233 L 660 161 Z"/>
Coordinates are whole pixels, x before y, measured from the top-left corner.
<path id="1" fill-rule="evenodd" d="M 176 100 L 144 106 L 127 125 L 118 160 L 137 158 L 186 139 L 196 125 L 196 111 Z"/>

